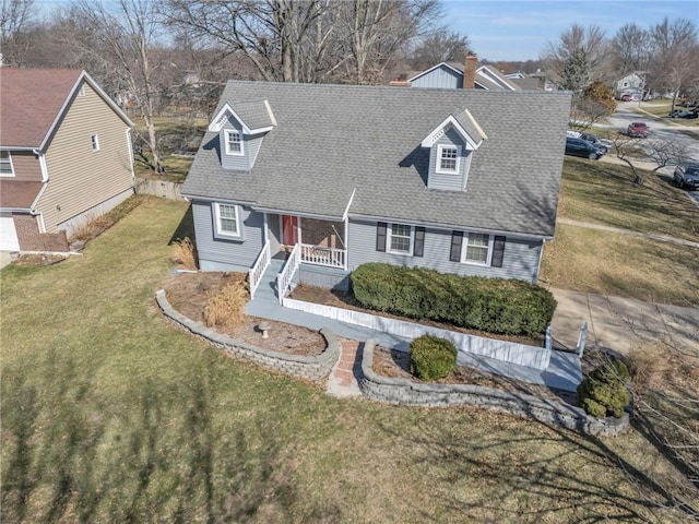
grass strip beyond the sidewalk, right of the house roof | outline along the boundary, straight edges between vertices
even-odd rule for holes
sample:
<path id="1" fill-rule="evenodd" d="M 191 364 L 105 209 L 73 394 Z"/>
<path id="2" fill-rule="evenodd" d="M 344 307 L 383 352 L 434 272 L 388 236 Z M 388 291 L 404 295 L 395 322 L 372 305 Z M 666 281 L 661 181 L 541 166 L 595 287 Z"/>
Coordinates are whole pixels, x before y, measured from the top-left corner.
<path id="1" fill-rule="evenodd" d="M 699 213 L 663 175 L 633 183 L 625 165 L 566 158 L 558 216 L 699 242 Z"/>

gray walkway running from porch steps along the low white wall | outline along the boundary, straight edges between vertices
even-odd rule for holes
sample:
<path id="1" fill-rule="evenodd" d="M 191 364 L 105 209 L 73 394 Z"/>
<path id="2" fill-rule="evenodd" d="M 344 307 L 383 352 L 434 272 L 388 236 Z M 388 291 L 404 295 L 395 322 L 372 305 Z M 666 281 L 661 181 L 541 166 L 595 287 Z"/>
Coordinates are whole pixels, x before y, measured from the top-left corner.
<path id="1" fill-rule="evenodd" d="M 353 341 L 366 342 L 374 338 L 377 344 L 384 347 L 392 347 L 407 352 L 410 341 L 400 336 L 378 332 L 368 327 L 347 324 L 333 319 L 328 319 L 317 314 L 306 313 L 284 308 L 279 303 L 276 295 L 276 275 L 281 271 L 284 260 L 273 258 L 270 266 L 264 272 L 260 287 L 254 299 L 248 302 L 246 312 L 279 322 L 286 322 L 295 325 L 303 325 L 310 330 L 328 327 L 337 336 L 351 338 Z M 537 370 L 525 366 L 502 362 L 493 358 L 478 355 L 466 355 L 466 365 L 483 371 L 497 373 L 516 380 L 522 380 L 533 384 L 547 385 L 562 391 L 576 391 L 582 380 L 580 361 L 578 356 L 570 353 L 552 352 L 550 364 L 545 370 Z"/>

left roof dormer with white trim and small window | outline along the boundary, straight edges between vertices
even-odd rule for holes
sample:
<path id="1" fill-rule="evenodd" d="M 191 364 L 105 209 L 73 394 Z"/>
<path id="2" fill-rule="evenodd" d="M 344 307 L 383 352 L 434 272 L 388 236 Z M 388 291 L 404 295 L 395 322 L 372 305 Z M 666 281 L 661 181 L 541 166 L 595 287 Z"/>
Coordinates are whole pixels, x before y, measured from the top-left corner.
<path id="1" fill-rule="evenodd" d="M 276 126 L 266 100 L 226 103 L 209 126 L 217 132 L 224 169 L 249 171 L 262 140 Z"/>

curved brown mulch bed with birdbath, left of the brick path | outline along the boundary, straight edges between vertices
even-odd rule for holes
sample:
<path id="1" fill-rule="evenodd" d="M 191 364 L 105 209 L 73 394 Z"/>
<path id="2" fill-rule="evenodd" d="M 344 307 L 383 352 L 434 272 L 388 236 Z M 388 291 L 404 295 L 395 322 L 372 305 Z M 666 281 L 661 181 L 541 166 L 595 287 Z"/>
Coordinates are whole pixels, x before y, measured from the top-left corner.
<path id="1" fill-rule="evenodd" d="M 163 283 L 163 289 L 176 311 L 197 322 L 204 323 L 208 293 L 218 291 L 228 284 L 245 281 L 246 277 L 247 275 L 244 273 L 179 273 L 170 275 Z M 257 327 L 263 321 L 269 322 L 272 326 L 269 331 L 269 338 L 262 338 L 262 332 Z M 237 327 L 217 326 L 216 331 L 257 347 L 287 355 L 317 356 L 325 349 L 325 340 L 316 331 L 258 317 L 245 315 L 241 325 Z"/>

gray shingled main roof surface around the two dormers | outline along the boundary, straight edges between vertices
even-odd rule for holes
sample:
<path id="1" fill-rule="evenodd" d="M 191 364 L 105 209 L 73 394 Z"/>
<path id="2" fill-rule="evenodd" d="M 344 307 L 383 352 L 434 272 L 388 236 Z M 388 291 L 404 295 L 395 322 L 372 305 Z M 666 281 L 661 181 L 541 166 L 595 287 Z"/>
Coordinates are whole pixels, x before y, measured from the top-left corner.
<path id="1" fill-rule="evenodd" d="M 236 99 L 269 100 L 277 127 L 250 172 L 222 169 L 218 135 L 206 133 L 183 194 L 342 216 L 356 188 L 351 216 L 553 235 L 568 93 L 229 82 L 220 108 Z M 466 191 L 429 190 L 420 142 L 454 108 L 488 140 Z"/>

